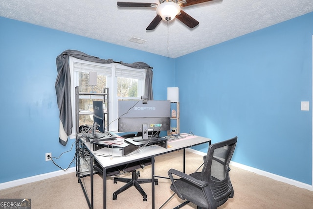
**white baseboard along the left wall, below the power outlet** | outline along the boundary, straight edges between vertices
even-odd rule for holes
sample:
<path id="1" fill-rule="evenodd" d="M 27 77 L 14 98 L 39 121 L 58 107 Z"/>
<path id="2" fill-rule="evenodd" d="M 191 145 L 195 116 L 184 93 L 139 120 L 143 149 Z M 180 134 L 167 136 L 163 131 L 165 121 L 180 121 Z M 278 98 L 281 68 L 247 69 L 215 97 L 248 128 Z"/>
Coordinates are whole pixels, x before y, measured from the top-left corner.
<path id="1" fill-rule="evenodd" d="M 71 168 L 68 168 L 67 171 L 59 170 L 59 171 L 44 173 L 44 174 L 40 174 L 40 175 L 36 175 L 36 176 L 23 178 L 23 179 L 18 179 L 18 180 L 14 180 L 14 181 L 10 181 L 10 182 L 4 182 L 4 183 L 0 184 L 0 189 L 6 189 L 6 188 L 13 187 L 13 186 L 20 186 L 20 185 L 24 185 L 24 184 L 28 184 L 28 183 L 32 183 L 32 182 L 38 182 L 41 180 L 61 176 L 64 174 L 75 172 L 75 171 L 76 171 L 76 168 L 71 167 Z"/>

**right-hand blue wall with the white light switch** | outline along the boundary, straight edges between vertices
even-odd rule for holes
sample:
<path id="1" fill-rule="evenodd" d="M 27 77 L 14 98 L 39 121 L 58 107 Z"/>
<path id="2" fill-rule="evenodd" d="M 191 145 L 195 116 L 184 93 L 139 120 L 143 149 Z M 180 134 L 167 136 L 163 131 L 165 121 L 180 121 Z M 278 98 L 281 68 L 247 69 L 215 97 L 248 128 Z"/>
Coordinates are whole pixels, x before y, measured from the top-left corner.
<path id="1" fill-rule="evenodd" d="M 312 185 L 312 25 L 309 13 L 175 59 L 181 132 L 238 136 L 233 161 Z"/>

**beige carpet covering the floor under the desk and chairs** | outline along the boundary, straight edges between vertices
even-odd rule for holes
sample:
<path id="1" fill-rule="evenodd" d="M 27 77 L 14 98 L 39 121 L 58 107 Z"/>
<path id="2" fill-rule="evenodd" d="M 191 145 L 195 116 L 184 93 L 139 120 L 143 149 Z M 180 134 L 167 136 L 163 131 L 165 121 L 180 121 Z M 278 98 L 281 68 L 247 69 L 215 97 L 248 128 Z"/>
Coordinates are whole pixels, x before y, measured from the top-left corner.
<path id="1" fill-rule="evenodd" d="M 202 163 L 202 157 L 186 152 L 186 173 L 194 172 Z M 182 169 L 182 151 L 156 157 L 156 175 L 167 176 L 170 168 Z M 126 174 L 124 176 L 130 177 Z M 231 181 L 234 187 L 234 198 L 219 209 L 313 209 L 313 192 L 285 183 L 277 182 L 237 167 L 231 167 Z M 140 178 L 151 177 L 151 166 L 140 170 Z M 85 180 L 89 186 L 89 179 Z M 143 202 L 139 192 L 133 187 L 112 200 L 112 193 L 125 183 L 113 184 L 112 178 L 107 178 L 108 209 L 151 209 L 151 184 L 141 186 L 148 195 L 148 201 Z M 156 191 L 156 209 L 158 209 L 173 193 L 170 180 L 158 179 Z M 90 194 L 90 193 L 89 193 Z M 102 178 L 95 175 L 94 208 L 102 208 Z M 74 173 L 46 179 L 0 190 L 0 198 L 30 198 L 32 209 L 88 209 L 88 205 L 80 184 Z M 166 204 L 163 209 L 171 209 L 179 205 L 177 196 Z M 188 204 L 183 209 L 196 209 Z"/>

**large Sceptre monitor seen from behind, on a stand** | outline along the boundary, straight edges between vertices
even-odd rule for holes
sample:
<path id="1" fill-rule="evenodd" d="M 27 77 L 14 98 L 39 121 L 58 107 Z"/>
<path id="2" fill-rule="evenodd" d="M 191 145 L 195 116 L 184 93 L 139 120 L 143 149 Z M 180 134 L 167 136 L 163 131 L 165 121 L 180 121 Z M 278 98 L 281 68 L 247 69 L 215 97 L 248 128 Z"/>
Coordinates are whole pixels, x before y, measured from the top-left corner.
<path id="1" fill-rule="evenodd" d="M 134 141 L 156 140 L 154 133 L 170 130 L 170 113 L 168 100 L 118 101 L 118 131 L 142 132 Z"/>

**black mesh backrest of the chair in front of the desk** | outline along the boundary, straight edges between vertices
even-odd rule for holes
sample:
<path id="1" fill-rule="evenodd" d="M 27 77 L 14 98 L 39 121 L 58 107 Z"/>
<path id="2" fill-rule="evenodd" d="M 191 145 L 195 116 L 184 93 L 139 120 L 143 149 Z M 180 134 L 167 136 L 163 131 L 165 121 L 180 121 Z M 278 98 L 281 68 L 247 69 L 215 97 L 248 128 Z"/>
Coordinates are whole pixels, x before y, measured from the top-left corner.
<path id="1" fill-rule="evenodd" d="M 228 175 L 228 166 L 236 143 L 237 137 L 234 137 L 209 146 L 201 171 L 201 181 L 209 183 L 209 186 L 204 189 L 208 201 L 213 201 L 212 198 L 214 198 L 213 202 L 222 201 L 225 198 L 227 200 L 230 195 L 233 195 L 231 194 L 233 188 Z"/>

